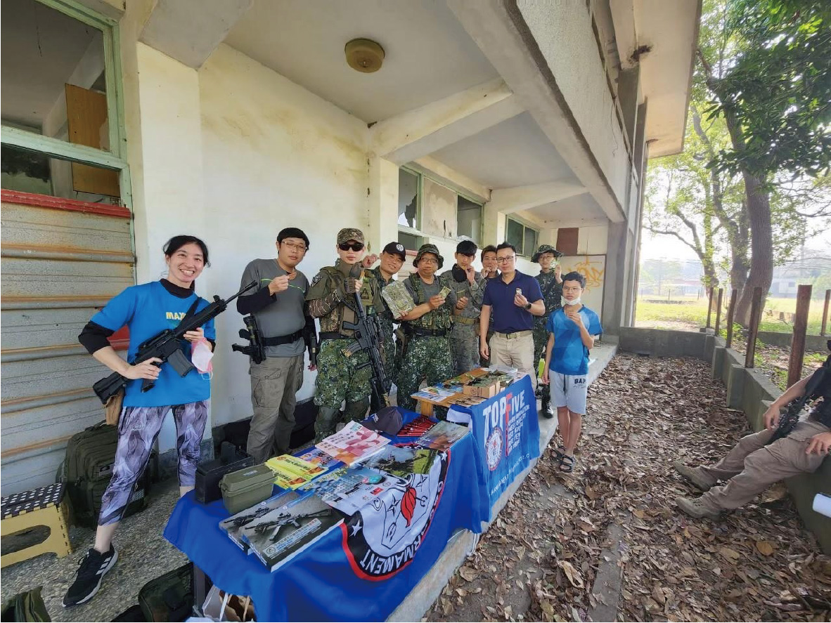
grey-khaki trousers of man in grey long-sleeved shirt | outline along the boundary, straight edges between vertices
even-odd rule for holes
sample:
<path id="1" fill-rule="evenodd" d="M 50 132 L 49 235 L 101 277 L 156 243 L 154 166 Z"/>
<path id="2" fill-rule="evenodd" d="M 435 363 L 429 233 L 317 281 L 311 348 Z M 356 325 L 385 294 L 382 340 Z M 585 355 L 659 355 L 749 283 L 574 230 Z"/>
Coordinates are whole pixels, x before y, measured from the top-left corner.
<path id="1" fill-rule="evenodd" d="M 303 383 L 303 356 L 266 357 L 263 363 L 252 363 L 248 373 L 254 416 L 247 451 L 259 464 L 288 453 L 297 405 L 295 395 Z"/>

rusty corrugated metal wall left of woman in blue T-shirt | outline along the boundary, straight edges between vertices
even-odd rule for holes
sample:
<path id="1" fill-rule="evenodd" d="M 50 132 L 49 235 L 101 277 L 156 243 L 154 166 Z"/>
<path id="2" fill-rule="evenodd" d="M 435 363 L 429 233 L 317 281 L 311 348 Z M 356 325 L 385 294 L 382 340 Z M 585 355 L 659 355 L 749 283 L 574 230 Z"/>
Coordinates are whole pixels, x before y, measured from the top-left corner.
<path id="1" fill-rule="evenodd" d="M 3 190 L 0 222 L 0 463 L 9 495 L 53 482 L 67 439 L 103 419 L 91 388 L 109 370 L 77 336 L 133 284 L 135 258 L 126 208 Z"/>

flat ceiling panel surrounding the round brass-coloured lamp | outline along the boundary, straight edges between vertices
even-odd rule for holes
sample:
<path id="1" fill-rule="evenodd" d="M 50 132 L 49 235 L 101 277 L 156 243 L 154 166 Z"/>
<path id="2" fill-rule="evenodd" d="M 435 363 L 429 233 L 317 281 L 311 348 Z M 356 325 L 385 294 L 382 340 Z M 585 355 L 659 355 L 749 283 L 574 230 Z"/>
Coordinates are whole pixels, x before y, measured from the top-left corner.
<path id="1" fill-rule="evenodd" d="M 384 48 L 379 71 L 347 65 L 356 37 Z M 367 123 L 498 76 L 444 0 L 255 2 L 225 43 Z"/>

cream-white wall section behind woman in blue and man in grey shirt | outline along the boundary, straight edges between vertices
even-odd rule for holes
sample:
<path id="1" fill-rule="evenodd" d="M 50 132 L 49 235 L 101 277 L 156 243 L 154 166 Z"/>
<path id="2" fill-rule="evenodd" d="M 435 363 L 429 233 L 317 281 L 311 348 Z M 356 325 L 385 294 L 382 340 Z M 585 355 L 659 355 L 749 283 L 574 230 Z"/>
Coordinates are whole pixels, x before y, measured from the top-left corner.
<path id="1" fill-rule="evenodd" d="M 340 228 L 368 228 L 366 125 L 356 117 L 225 45 L 199 70 L 199 105 L 216 292 L 233 293 L 253 258 L 275 257 L 284 227 L 311 240 L 298 267 L 309 280 L 337 258 Z M 230 348 L 242 326 L 236 309 L 217 318 L 214 426 L 252 415 L 248 361 Z M 313 392 L 307 371 L 297 398 Z"/>

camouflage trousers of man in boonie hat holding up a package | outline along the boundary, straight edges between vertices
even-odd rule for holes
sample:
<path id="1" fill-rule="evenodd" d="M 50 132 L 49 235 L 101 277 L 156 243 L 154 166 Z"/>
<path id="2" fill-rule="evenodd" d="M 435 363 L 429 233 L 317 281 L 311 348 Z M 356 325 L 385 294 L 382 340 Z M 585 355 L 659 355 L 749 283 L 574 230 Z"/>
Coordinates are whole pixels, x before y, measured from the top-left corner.
<path id="1" fill-rule="evenodd" d="M 396 381 L 398 405 L 415 410 L 416 400 L 411 395 L 418 391 L 422 380 L 434 385 L 452 376 L 453 361 L 447 337 L 412 336 Z"/>

